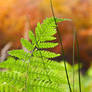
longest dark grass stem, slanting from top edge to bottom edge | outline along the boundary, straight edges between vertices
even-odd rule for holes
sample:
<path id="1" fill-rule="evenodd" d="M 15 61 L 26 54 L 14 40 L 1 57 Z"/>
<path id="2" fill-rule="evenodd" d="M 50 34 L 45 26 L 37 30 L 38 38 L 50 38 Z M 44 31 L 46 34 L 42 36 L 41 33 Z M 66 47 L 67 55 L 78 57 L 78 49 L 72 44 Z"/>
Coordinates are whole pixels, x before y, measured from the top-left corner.
<path id="1" fill-rule="evenodd" d="M 53 5 L 52 5 L 52 0 L 50 0 L 50 4 L 51 4 L 52 15 L 53 15 L 53 17 L 54 17 L 54 21 L 55 21 L 55 24 L 56 24 L 56 26 L 57 26 L 56 19 L 55 19 L 55 15 L 54 15 L 54 10 L 53 10 Z M 68 76 L 68 71 L 67 71 L 67 66 L 66 66 L 66 60 L 65 60 L 65 55 L 64 55 L 64 48 L 63 48 L 63 43 L 62 43 L 62 37 L 61 37 L 61 35 L 60 35 L 60 32 L 59 32 L 58 27 L 56 27 L 56 30 L 57 30 L 57 34 L 58 34 L 58 37 L 59 37 L 59 40 L 60 40 L 62 58 L 63 58 L 63 60 L 64 60 L 64 66 L 65 66 L 65 72 L 66 72 L 66 77 L 67 77 L 68 86 L 69 86 L 70 92 L 72 92 L 71 85 L 70 85 L 70 81 L 69 81 L 69 76 Z"/>

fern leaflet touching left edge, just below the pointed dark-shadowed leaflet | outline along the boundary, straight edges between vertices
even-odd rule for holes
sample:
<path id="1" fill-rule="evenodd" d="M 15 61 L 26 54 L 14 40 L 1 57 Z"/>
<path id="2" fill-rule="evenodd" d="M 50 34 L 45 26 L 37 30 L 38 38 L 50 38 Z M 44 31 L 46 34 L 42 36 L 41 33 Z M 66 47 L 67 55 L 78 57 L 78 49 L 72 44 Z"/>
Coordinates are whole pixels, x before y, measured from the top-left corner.
<path id="1" fill-rule="evenodd" d="M 5 62 L 0 64 L 0 68 L 5 68 L 7 71 L 17 71 L 17 72 L 26 72 L 27 71 L 27 61 L 15 60 L 14 58 L 8 58 Z"/>

